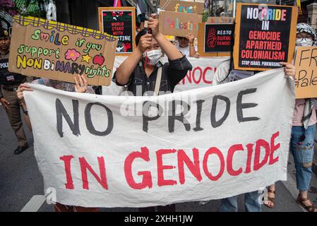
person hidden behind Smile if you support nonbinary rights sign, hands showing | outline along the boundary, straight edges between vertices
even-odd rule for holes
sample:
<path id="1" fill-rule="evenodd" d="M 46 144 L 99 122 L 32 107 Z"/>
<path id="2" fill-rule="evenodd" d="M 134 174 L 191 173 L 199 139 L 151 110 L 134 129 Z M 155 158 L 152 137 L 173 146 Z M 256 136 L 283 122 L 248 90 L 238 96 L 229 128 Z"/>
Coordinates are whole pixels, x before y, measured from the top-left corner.
<path id="1" fill-rule="evenodd" d="M 88 83 L 83 75 L 74 76 L 74 81 L 75 81 L 75 84 L 55 81 L 48 78 L 39 78 L 35 81 L 32 81 L 32 83 L 46 85 L 46 86 L 55 88 L 57 90 L 64 90 L 68 92 L 95 93 L 92 87 L 88 86 Z M 23 91 L 32 91 L 32 90 L 33 89 L 30 88 L 30 85 L 28 85 L 28 83 L 20 84 L 18 87 L 18 90 L 16 90 L 16 95 L 18 96 L 18 99 L 22 102 L 23 112 L 25 113 L 25 119 L 28 119 L 29 116 L 28 116 L 28 108 L 25 104 L 25 100 L 23 97 Z M 61 203 L 56 203 L 54 205 L 54 210 L 56 212 L 99 212 L 97 208 L 85 208 L 81 206 L 66 206 Z"/>

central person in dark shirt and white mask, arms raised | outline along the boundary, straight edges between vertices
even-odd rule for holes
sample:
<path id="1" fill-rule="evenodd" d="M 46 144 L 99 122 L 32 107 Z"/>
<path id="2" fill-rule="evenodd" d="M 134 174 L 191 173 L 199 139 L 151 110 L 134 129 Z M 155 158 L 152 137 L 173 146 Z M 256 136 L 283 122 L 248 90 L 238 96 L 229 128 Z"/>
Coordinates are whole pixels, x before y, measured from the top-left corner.
<path id="1" fill-rule="evenodd" d="M 116 69 L 113 81 L 117 85 L 126 86 L 131 95 L 159 95 L 172 93 L 179 83 L 192 69 L 188 59 L 165 38 L 159 30 L 157 15 L 152 14 L 148 28 L 136 35 L 137 48 Z M 160 62 L 162 51 L 169 62 Z"/>

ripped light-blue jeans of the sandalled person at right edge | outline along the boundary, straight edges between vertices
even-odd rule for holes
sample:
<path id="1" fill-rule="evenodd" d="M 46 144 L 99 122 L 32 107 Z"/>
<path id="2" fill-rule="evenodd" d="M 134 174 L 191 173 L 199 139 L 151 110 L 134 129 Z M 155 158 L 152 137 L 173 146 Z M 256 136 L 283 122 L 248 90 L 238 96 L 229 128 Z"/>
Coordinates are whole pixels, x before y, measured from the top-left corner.
<path id="1" fill-rule="evenodd" d="M 296 182 L 299 191 L 308 191 L 311 183 L 311 166 L 313 164 L 313 134 L 316 125 L 309 126 L 306 131 L 304 126 L 292 126 L 290 149 L 294 156 L 296 168 Z M 304 138 L 301 141 L 301 138 Z"/>

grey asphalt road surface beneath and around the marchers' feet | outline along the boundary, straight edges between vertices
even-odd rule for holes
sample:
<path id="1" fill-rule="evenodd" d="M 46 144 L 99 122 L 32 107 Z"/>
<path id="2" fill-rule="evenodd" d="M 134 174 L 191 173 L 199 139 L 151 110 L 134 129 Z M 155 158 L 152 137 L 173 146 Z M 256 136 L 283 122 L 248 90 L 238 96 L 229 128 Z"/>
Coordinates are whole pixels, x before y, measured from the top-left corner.
<path id="1" fill-rule="evenodd" d="M 28 142 L 32 144 L 32 134 L 25 126 Z M 18 142 L 8 123 L 4 109 L 0 106 L 0 211 L 20 211 L 30 201 L 32 196 L 43 195 L 43 179 L 37 167 L 32 146 L 20 155 L 14 155 Z M 289 157 L 287 182 L 277 182 L 276 204 L 274 209 L 263 206 L 264 212 L 292 211 L 301 212 L 303 209 L 296 203 L 297 189 L 292 156 Z M 317 177 L 313 175 L 309 197 L 317 203 Z M 244 211 L 243 196 L 239 196 L 239 211 Z M 220 201 L 177 203 L 177 212 L 199 211 L 217 212 Z M 54 211 L 52 205 L 44 203 L 38 210 L 41 212 Z M 101 211 L 138 211 L 137 208 L 102 208 Z"/>

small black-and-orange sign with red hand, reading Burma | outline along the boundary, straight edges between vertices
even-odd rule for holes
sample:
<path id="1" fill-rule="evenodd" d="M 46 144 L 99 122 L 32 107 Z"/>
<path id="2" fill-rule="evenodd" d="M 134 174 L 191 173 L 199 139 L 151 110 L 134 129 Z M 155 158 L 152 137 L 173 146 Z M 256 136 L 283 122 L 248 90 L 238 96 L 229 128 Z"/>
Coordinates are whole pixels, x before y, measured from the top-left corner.
<path id="1" fill-rule="evenodd" d="M 199 23 L 198 53 L 202 57 L 230 56 L 233 36 L 233 24 Z"/>

